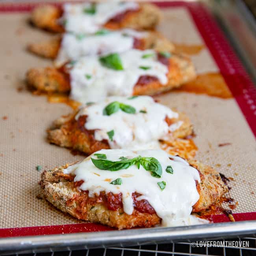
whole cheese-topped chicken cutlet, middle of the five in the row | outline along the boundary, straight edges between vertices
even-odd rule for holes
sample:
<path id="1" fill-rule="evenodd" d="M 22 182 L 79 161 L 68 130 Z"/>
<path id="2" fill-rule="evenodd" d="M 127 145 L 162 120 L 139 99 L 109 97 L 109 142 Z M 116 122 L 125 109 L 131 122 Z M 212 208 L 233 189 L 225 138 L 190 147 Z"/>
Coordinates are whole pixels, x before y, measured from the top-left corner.
<path id="1" fill-rule="evenodd" d="M 77 102 L 106 96 L 155 95 L 195 78 L 190 59 L 169 52 L 131 49 L 120 54 L 87 56 L 60 68 L 32 68 L 28 87 L 37 91 L 69 93 Z"/>

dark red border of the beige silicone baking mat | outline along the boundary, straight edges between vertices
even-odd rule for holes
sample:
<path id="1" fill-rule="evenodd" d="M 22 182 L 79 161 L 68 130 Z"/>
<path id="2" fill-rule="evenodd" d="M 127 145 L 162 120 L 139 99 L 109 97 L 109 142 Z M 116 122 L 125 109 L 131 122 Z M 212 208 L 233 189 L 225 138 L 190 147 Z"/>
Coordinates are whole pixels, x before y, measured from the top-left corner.
<path id="1" fill-rule="evenodd" d="M 37 4 L 38 3 L 0 4 L 0 12 L 31 11 Z M 226 84 L 236 99 L 236 102 L 245 116 L 253 134 L 256 136 L 256 88 L 208 9 L 197 2 L 188 3 L 175 1 L 156 2 L 156 4 L 161 8 L 187 8 L 197 26 L 198 31 L 204 39 L 205 44 L 210 50 L 211 55 L 215 59 Z M 256 212 L 235 213 L 233 216 L 236 221 L 256 220 Z M 230 221 L 230 219 L 224 214 L 211 215 L 209 216 L 209 219 L 214 223 Z M 113 228 L 95 223 L 2 228 L 0 229 L 0 237 L 69 234 L 107 230 L 113 230 Z"/>

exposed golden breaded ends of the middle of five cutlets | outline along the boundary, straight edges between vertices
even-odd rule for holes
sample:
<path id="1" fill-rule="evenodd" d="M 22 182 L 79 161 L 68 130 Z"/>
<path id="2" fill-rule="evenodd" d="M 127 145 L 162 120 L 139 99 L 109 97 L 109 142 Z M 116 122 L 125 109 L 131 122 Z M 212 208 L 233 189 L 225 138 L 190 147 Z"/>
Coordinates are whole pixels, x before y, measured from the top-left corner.
<path id="1" fill-rule="evenodd" d="M 159 81 L 147 84 L 136 84 L 133 95 L 156 95 L 173 88 L 180 87 L 182 83 L 196 77 L 195 68 L 191 60 L 180 54 L 172 54 L 169 59 L 168 82 L 161 85 Z M 26 73 L 28 87 L 46 93 L 69 93 L 70 84 L 67 76 L 54 67 L 32 68 Z"/>

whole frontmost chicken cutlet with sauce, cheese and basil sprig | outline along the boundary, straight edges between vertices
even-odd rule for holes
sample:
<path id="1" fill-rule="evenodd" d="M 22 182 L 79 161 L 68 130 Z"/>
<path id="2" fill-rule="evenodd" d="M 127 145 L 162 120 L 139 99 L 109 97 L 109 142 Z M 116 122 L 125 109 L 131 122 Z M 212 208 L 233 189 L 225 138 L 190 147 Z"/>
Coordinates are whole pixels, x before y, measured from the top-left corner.
<path id="1" fill-rule="evenodd" d="M 41 174 L 44 197 L 77 219 L 118 229 L 204 224 L 228 191 L 217 171 L 163 150 L 100 150 Z"/>

